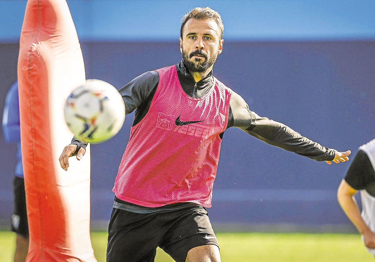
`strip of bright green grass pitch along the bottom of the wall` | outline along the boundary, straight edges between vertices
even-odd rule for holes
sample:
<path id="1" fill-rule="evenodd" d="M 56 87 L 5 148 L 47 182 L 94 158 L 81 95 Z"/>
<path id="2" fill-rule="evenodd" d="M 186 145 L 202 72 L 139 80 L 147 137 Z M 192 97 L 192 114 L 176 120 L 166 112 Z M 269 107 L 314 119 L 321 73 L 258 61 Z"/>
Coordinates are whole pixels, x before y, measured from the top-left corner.
<path id="1" fill-rule="evenodd" d="M 105 262 L 107 232 L 92 232 L 98 262 Z M 223 262 L 372 262 L 358 234 L 217 233 Z M 0 261 L 12 261 L 15 234 L 0 231 Z M 161 249 L 156 262 L 173 262 Z"/>

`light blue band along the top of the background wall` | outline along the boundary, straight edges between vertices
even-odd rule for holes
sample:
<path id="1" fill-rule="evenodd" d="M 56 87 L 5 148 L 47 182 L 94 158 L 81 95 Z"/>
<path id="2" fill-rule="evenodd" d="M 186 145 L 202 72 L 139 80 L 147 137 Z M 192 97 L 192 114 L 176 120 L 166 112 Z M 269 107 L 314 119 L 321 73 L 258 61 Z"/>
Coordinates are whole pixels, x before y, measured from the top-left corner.
<path id="1" fill-rule="evenodd" d="M 196 6 L 217 10 L 227 40 L 374 39 L 372 0 L 67 0 L 81 41 L 179 37 Z M 0 1 L 0 41 L 17 42 L 26 0 Z"/>

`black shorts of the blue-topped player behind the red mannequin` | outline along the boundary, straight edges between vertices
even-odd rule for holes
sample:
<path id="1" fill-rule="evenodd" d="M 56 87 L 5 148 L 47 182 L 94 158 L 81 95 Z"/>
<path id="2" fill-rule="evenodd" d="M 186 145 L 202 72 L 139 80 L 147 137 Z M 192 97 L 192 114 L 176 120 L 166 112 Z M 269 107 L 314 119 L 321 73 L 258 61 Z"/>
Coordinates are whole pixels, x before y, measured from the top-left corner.
<path id="1" fill-rule="evenodd" d="M 13 179 L 14 209 L 11 219 L 11 229 L 17 235 L 28 237 L 28 224 L 26 213 L 25 183 L 22 177 Z"/>

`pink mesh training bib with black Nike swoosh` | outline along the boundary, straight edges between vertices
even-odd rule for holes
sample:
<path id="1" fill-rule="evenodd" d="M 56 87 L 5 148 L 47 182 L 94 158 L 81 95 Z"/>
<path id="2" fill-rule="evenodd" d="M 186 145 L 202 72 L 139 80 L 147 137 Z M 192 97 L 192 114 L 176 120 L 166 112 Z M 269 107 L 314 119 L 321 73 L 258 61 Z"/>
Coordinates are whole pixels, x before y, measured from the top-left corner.
<path id="1" fill-rule="evenodd" d="M 113 192 L 146 207 L 211 207 L 231 90 L 214 78 L 207 94 L 192 98 L 181 88 L 175 65 L 156 71 L 159 85 L 147 114 L 130 129 Z"/>

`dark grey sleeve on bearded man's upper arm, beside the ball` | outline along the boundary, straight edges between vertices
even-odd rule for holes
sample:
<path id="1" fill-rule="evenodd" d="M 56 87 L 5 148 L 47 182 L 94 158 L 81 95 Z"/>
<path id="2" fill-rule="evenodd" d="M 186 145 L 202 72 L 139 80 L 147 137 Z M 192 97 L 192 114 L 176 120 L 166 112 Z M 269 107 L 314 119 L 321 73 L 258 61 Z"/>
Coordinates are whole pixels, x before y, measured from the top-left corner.
<path id="1" fill-rule="evenodd" d="M 125 113 L 130 114 L 140 106 L 158 83 L 159 73 L 147 71 L 118 89 L 125 103 Z"/>

